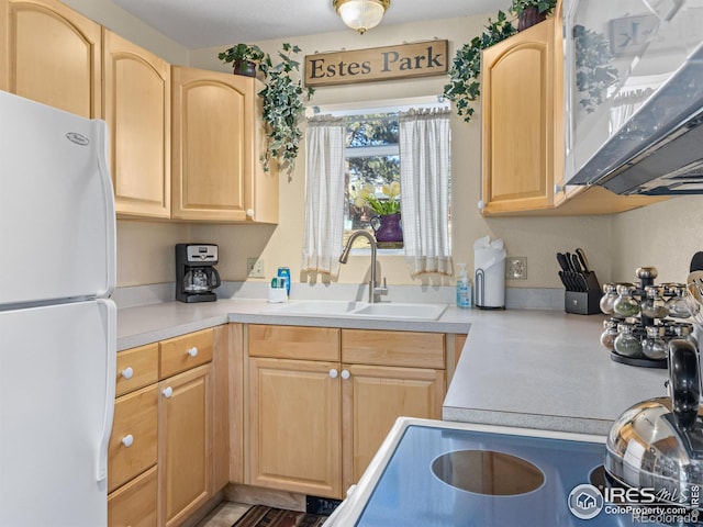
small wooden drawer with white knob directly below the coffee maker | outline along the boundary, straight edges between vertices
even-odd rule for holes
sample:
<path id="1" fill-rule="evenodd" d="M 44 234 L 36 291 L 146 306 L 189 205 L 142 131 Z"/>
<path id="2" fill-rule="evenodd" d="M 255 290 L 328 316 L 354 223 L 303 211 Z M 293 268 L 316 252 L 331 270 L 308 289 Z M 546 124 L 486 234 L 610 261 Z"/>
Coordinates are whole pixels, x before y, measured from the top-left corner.
<path id="1" fill-rule="evenodd" d="M 190 333 L 159 343 L 159 379 L 212 360 L 212 329 Z"/>

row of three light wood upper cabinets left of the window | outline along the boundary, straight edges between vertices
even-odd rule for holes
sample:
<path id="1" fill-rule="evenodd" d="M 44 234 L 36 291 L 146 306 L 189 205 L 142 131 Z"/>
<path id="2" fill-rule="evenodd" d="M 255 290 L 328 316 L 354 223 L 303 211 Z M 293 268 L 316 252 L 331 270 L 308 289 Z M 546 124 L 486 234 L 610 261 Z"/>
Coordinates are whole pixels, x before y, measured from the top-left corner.
<path id="1" fill-rule="evenodd" d="M 0 89 L 107 121 L 120 217 L 278 223 L 256 79 L 171 67 L 57 0 L 0 0 Z"/>

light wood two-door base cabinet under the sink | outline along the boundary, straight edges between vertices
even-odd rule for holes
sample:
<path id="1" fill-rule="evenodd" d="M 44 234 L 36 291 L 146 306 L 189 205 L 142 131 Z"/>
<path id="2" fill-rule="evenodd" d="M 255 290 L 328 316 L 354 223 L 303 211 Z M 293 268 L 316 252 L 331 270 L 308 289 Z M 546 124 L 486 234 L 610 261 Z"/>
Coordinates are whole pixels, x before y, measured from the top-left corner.
<path id="1" fill-rule="evenodd" d="M 397 417 L 440 417 L 443 334 L 248 325 L 246 340 L 248 484 L 342 497 Z"/>

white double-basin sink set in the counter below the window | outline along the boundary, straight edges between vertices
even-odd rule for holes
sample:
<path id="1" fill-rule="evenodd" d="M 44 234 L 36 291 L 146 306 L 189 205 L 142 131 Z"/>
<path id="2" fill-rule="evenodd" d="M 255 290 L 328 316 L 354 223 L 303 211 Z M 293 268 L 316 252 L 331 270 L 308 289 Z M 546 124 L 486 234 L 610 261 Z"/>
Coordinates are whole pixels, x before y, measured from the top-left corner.
<path id="1" fill-rule="evenodd" d="M 382 302 L 341 302 L 325 300 L 292 301 L 280 307 L 268 309 L 267 313 L 300 316 L 344 316 L 355 318 L 391 318 L 413 321 L 436 321 L 446 310 L 446 304 L 411 304 Z"/>

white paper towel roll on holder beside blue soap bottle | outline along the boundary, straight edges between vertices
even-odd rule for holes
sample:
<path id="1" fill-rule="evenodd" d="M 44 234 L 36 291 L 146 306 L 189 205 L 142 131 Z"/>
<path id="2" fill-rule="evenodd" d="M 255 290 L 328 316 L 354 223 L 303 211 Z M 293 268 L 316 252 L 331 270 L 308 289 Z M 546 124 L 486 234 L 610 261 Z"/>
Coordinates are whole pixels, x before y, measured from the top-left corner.
<path id="1" fill-rule="evenodd" d="M 477 307 L 505 307 L 505 257 L 503 240 L 489 236 L 473 243 L 473 291 Z"/>

